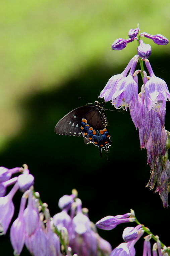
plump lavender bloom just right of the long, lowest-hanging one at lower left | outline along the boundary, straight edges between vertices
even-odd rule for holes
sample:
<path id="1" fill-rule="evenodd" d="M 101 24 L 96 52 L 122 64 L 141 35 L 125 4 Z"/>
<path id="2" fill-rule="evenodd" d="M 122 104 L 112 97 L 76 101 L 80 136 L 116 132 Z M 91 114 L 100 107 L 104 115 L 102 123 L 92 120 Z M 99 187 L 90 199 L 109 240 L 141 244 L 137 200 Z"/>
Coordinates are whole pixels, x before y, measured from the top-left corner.
<path id="1" fill-rule="evenodd" d="M 25 232 L 30 236 L 36 232 L 39 225 L 38 207 L 35 207 L 33 191 L 30 190 L 29 199 L 26 209 L 23 212 L 23 222 Z"/>

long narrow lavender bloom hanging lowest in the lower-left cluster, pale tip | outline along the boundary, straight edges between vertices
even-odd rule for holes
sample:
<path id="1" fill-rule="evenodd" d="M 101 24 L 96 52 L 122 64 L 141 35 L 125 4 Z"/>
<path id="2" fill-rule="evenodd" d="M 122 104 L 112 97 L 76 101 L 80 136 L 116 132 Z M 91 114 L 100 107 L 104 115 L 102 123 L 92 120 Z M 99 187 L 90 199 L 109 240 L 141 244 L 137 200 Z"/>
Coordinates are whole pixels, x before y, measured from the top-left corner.
<path id="1" fill-rule="evenodd" d="M 23 194 L 21 198 L 18 218 L 12 223 L 12 226 L 10 229 L 10 240 L 11 240 L 12 247 L 14 249 L 14 254 L 16 255 L 20 255 L 25 242 L 23 211 L 25 209 L 25 204 L 27 200 L 27 198 L 25 197 L 26 194 Z"/>

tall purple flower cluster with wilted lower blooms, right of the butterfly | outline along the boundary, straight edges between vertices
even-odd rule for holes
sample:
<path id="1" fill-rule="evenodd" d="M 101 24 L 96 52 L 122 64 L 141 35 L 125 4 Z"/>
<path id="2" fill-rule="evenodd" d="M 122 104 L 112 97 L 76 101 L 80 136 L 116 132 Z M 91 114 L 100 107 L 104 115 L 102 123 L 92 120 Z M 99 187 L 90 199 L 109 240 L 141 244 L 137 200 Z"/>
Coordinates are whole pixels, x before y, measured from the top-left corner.
<path id="1" fill-rule="evenodd" d="M 152 70 L 148 60 L 151 46 L 145 44 L 140 37 L 150 38 L 159 45 L 167 44 L 168 39 L 160 34 L 153 36 L 139 33 L 139 28 L 130 29 L 128 36 L 126 40 L 117 39 L 112 44 L 112 49 L 122 50 L 127 43 L 137 40 L 137 55 L 129 61 L 121 74 L 109 79 L 99 97 L 111 101 L 117 109 L 129 108 L 131 119 L 139 131 L 140 148 L 146 148 L 148 153 L 151 178 L 147 186 L 153 189 L 157 182 L 156 192 L 159 192 L 163 206 L 168 207 L 170 162 L 167 151 L 170 139 L 169 132 L 165 130 L 165 113 L 170 93 L 165 81 L 157 77 Z M 140 63 L 141 69 L 135 70 L 137 62 Z M 144 70 L 144 63 L 149 75 Z M 138 73 L 141 74 L 144 83 L 141 89 L 138 87 Z"/>

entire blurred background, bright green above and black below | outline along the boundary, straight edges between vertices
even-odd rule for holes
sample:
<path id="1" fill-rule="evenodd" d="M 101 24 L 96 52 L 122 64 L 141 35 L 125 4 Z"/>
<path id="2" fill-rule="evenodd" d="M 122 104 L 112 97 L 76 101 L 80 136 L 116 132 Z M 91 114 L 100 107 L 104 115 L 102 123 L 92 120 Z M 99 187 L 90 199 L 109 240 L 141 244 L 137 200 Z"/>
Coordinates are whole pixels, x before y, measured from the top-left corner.
<path id="1" fill-rule="evenodd" d="M 169 0 L 1 2 L 0 165 L 13 168 L 26 163 L 51 216 L 59 212 L 59 198 L 75 188 L 93 222 L 132 208 L 141 223 L 170 245 L 166 235 L 170 209 L 163 209 L 158 193 L 145 187 L 150 178 L 147 153 L 140 150 L 129 111 L 124 115 L 107 111 L 109 161 L 105 152 L 101 158 L 98 148 L 85 145 L 81 137 L 54 133 L 60 118 L 87 104 L 79 97 L 97 100 L 108 79 L 121 73 L 136 54 L 136 41 L 112 51 L 113 41 L 128 38 L 137 23 L 141 32 L 170 39 L 169 13 Z M 152 46 L 149 60 L 155 74 L 169 86 L 170 44 L 156 45 L 147 38 L 144 42 Z M 110 103 L 106 108 L 113 109 Z M 167 130 L 169 113 L 167 102 Z M 18 192 L 13 200 L 14 219 L 21 195 Z M 114 248 L 122 242 L 126 226 L 99 234 Z M 136 250 L 141 255 L 140 240 Z M 9 232 L 0 237 L 0 245 L 1 255 L 13 255 Z M 21 255 L 29 253 L 24 248 Z"/>

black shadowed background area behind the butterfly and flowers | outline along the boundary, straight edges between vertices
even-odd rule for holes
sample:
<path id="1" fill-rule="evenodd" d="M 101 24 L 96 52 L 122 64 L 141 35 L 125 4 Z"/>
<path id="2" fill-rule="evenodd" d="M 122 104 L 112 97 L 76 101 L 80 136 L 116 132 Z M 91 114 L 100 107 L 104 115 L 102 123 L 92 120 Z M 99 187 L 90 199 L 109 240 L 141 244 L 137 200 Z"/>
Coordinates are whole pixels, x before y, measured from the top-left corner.
<path id="1" fill-rule="evenodd" d="M 153 70 L 169 85 L 166 64 L 169 56 L 156 57 L 150 57 Z M 138 131 L 130 119 L 129 110 L 124 114 L 106 111 L 112 140 L 109 161 L 105 151 L 101 158 L 98 147 L 85 145 L 81 137 L 54 133 L 59 119 L 72 109 L 87 104 L 79 97 L 97 100 L 108 79 L 122 72 L 125 65 L 114 71 L 102 65 L 92 65 L 61 88 L 20 101 L 20 107 L 27 113 L 26 122 L 20 134 L 0 153 L 1 166 L 13 168 L 26 163 L 35 177 L 35 190 L 42 201 L 48 203 L 51 216 L 59 212 L 59 198 L 71 194 L 75 188 L 82 207 L 89 209 L 89 218 L 94 223 L 107 215 L 125 214 L 133 209 L 138 221 L 169 246 L 170 209 L 163 208 L 158 193 L 145 187 L 150 178 L 147 152 L 140 150 Z M 114 109 L 109 102 L 105 107 Z M 170 103 L 167 102 L 167 130 L 170 130 L 169 111 Z M 13 220 L 17 217 L 21 195 L 17 192 L 13 199 L 16 209 Z M 123 242 L 121 235 L 126 226 L 129 224 L 121 224 L 111 231 L 98 231 L 114 248 Z M 142 247 L 143 238 L 135 246 L 140 255 Z M 1 255 L 13 255 L 9 231 L 1 237 Z M 24 249 L 21 255 L 29 253 Z"/>

